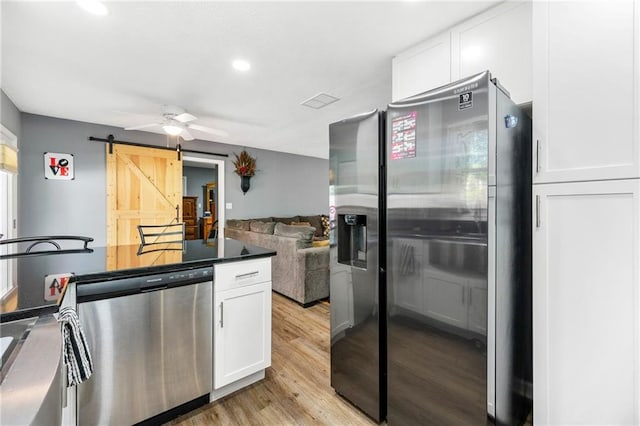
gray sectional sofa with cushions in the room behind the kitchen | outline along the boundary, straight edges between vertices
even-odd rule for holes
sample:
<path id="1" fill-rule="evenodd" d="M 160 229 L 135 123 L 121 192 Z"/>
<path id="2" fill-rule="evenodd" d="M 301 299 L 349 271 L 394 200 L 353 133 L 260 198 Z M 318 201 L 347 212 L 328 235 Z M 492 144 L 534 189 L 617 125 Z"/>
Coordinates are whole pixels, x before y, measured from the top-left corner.
<path id="1" fill-rule="evenodd" d="M 322 223 L 320 215 L 229 219 L 224 235 L 275 250 L 277 255 L 272 258 L 273 290 L 306 307 L 329 297 L 329 245 Z"/>

